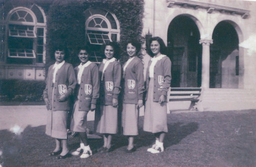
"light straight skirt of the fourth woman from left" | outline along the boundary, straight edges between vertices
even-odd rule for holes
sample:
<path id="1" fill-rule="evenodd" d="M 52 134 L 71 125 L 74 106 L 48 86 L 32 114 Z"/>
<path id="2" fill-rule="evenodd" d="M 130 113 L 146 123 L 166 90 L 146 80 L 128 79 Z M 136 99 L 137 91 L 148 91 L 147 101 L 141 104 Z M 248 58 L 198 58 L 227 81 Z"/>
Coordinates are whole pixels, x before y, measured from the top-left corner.
<path id="1" fill-rule="evenodd" d="M 123 104 L 122 131 L 123 135 L 138 135 L 139 110 L 137 104 Z"/>

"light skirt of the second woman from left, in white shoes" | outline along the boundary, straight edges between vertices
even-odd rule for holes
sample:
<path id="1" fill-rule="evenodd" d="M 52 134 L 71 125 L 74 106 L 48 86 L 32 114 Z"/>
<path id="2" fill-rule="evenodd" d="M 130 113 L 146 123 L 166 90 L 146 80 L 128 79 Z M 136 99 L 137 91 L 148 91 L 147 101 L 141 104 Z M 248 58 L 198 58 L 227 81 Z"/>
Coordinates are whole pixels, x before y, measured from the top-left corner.
<path id="1" fill-rule="evenodd" d="M 75 132 L 86 132 L 88 111 L 79 111 L 79 101 L 74 104 L 71 117 L 70 130 Z"/>

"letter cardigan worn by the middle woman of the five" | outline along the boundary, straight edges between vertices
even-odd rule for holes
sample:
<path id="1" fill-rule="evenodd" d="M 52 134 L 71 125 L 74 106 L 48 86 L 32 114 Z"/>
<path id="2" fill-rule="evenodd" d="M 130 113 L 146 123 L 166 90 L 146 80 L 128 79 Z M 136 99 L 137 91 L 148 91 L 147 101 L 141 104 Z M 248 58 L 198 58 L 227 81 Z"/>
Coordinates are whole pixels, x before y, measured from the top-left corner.
<path id="1" fill-rule="evenodd" d="M 103 73 L 104 64 L 99 64 L 99 78 Z M 121 89 L 121 64 L 118 61 L 111 62 L 106 67 L 103 80 L 100 82 L 100 104 L 112 105 L 112 99 L 118 99 Z"/>

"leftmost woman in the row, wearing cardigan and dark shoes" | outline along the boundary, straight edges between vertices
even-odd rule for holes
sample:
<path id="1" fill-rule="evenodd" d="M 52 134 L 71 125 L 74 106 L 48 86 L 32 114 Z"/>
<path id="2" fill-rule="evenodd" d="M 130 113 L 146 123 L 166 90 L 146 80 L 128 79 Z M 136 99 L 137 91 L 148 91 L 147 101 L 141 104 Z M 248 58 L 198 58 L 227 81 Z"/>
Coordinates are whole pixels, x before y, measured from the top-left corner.
<path id="1" fill-rule="evenodd" d="M 56 147 L 50 155 L 60 154 L 57 158 L 63 159 L 69 155 L 67 119 L 70 110 L 70 96 L 75 89 L 76 78 L 73 66 L 65 62 L 66 48 L 56 46 L 54 50 L 56 62 L 49 67 L 44 90 L 44 100 L 48 109 L 46 134 L 55 138 L 56 143 Z"/>

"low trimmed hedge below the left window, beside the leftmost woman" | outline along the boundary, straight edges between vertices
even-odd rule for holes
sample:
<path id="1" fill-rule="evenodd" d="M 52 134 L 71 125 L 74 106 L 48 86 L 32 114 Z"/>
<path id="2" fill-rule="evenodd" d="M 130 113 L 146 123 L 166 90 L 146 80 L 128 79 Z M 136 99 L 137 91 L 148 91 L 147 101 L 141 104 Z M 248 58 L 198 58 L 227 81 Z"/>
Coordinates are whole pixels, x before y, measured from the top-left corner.
<path id="1" fill-rule="evenodd" d="M 0 81 L 0 101 L 43 101 L 45 81 L 4 79 Z"/>

